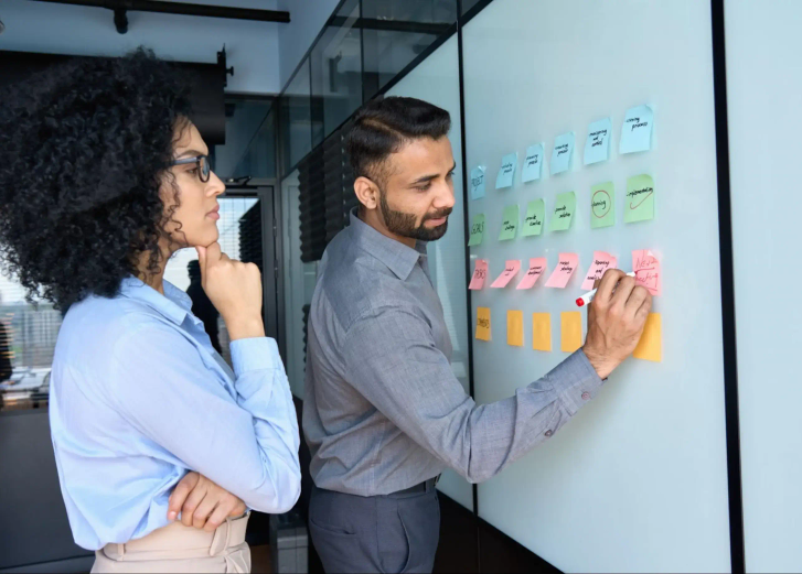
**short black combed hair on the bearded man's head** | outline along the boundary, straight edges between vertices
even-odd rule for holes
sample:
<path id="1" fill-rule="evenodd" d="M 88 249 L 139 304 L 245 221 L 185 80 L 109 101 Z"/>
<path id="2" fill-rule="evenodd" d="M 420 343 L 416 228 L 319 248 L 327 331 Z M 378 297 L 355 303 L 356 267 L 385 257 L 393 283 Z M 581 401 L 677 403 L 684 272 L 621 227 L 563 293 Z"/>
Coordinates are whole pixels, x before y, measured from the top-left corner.
<path id="1" fill-rule="evenodd" d="M 413 140 L 439 140 L 450 129 L 448 111 L 428 101 L 399 97 L 368 101 L 356 111 L 345 138 L 354 177 L 381 185 L 388 175 L 386 164 L 392 153 Z"/>

